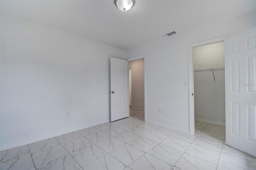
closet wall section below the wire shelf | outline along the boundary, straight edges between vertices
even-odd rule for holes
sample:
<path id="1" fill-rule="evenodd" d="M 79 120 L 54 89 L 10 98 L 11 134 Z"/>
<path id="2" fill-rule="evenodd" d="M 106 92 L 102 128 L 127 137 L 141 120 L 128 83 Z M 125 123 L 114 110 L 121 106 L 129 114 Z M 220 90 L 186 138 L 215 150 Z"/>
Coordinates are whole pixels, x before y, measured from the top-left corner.
<path id="1" fill-rule="evenodd" d="M 225 125 L 225 71 L 194 72 L 195 120 Z"/>

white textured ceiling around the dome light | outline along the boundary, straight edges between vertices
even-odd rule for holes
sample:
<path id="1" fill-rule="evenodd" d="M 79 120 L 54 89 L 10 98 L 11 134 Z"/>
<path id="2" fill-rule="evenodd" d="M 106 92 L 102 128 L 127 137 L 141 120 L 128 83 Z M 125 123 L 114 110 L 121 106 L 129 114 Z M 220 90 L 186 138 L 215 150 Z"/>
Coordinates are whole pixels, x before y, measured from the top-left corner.
<path id="1" fill-rule="evenodd" d="M 127 12 L 114 0 L 2 1 L 1 13 L 120 49 L 133 49 L 202 24 L 255 13 L 256 1 L 135 0 Z"/>

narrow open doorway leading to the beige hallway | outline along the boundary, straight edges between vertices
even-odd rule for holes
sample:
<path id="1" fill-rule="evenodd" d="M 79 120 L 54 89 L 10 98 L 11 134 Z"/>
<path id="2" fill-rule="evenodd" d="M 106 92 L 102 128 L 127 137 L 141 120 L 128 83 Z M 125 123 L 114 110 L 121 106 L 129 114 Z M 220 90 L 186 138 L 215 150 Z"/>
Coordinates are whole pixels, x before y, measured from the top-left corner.
<path id="1" fill-rule="evenodd" d="M 128 59 L 128 61 L 130 73 L 130 116 L 142 121 L 146 121 L 144 57 L 135 57 L 133 59 Z"/>

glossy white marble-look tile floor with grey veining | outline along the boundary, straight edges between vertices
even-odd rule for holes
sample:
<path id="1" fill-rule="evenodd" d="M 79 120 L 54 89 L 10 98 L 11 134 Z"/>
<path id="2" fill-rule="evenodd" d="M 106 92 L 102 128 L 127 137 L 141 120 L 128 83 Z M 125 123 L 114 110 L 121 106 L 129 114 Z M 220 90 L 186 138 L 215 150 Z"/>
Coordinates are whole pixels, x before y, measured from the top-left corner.
<path id="1" fill-rule="evenodd" d="M 225 127 L 196 122 L 196 135 L 188 135 L 145 123 L 140 113 L 132 110 L 133 117 L 3 150 L 0 169 L 256 169 L 256 158 L 223 144 Z"/>

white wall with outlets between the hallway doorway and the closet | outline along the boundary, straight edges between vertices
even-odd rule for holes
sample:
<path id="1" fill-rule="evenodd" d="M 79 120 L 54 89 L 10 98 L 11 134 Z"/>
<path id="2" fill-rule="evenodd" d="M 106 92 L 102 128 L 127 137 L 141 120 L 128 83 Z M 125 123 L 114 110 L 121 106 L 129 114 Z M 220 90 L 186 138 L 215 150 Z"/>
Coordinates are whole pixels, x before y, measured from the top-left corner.
<path id="1" fill-rule="evenodd" d="M 213 25 L 182 27 L 180 35 L 126 52 L 127 59 L 144 58 L 146 80 L 147 121 L 162 123 L 176 129 L 189 131 L 188 46 L 193 43 L 234 35 L 256 26 L 256 17 L 247 15 Z M 158 108 L 166 113 L 158 113 Z"/>

